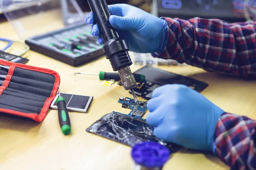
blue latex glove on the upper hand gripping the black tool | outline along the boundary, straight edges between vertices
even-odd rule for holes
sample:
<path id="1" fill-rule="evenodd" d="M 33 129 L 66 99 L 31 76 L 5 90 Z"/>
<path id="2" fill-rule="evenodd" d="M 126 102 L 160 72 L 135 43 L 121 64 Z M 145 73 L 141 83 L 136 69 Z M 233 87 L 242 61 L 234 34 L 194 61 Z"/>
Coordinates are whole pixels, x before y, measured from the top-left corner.
<path id="1" fill-rule="evenodd" d="M 139 53 L 161 53 L 167 45 L 168 27 L 164 19 L 151 15 L 140 8 L 127 4 L 108 6 L 109 22 L 116 28 L 119 37 L 126 40 L 131 51 Z M 92 34 L 103 44 L 99 28 L 95 24 L 92 12 L 85 18 L 85 23 L 93 24 Z"/>

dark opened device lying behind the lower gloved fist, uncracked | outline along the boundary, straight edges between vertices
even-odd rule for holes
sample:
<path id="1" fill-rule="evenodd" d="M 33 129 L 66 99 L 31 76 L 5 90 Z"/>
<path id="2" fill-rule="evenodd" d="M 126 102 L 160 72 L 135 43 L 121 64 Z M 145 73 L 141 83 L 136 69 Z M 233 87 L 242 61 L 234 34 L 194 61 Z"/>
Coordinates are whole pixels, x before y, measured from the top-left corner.
<path id="1" fill-rule="evenodd" d="M 145 66 L 140 70 L 135 71 L 134 73 L 145 75 L 145 81 L 138 84 L 137 88 L 134 88 L 134 91 L 137 96 L 141 96 L 147 100 L 152 98 L 152 93 L 154 89 L 162 85 L 181 84 L 186 85 L 198 92 L 203 91 L 208 86 L 206 82 L 202 82 L 189 77 L 184 77 L 150 66 Z"/>

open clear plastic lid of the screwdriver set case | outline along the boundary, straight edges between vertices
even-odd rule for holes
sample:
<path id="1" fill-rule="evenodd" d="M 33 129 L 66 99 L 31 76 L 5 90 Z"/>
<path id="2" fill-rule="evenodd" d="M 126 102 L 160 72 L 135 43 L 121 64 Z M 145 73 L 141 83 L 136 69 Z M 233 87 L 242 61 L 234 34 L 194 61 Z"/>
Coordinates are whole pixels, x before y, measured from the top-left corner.
<path id="1" fill-rule="evenodd" d="M 76 0 L 0 0 L 3 14 L 23 40 L 68 25 L 63 22 L 68 20 L 67 4 L 73 9 L 72 17 L 76 14 L 76 20 L 70 24 L 84 20 Z"/>

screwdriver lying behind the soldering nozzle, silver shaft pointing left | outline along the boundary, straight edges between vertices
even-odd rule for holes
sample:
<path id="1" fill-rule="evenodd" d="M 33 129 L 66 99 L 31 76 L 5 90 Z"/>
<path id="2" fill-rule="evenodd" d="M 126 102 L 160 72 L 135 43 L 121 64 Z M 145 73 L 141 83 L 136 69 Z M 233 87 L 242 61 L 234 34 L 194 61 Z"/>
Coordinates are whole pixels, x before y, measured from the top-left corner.
<path id="1" fill-rule="evenodd" d="M 96 73 L 74 73 L 76 74 L 87 74 L 87 75 L 95 75 L 95 76 L 99 76 L 99 79 L 101 80 L 107 80 L 107 79 L 114 79 L 116 81 L 120 80 L 120 76 L 118 73 L 106 73 L 104 71 L 100 71 L 99 74 Z M 145 75 L 142 74 L 133 74 L 135 77 L 136 82 L 143 82 L 145 80 Z"/>

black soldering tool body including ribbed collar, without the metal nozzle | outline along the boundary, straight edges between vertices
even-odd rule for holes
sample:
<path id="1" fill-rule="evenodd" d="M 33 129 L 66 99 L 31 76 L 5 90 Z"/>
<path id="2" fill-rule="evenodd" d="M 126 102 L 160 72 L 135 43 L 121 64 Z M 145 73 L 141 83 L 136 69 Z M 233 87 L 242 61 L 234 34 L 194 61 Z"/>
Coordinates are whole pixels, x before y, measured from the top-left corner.
<path id="1" fill-rule="evenodd" d="M 106 0 L 88 0 L 88 3 L 104 41 L 104 54 L 109 59 L 113 71 L 132 65 L 125 40 L 119 37 L 118 32 L 109 23 L 110 12 Z"/>

